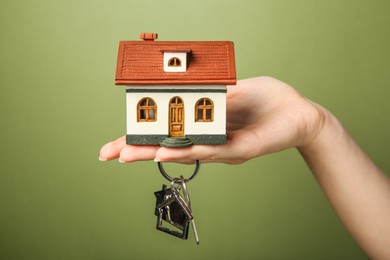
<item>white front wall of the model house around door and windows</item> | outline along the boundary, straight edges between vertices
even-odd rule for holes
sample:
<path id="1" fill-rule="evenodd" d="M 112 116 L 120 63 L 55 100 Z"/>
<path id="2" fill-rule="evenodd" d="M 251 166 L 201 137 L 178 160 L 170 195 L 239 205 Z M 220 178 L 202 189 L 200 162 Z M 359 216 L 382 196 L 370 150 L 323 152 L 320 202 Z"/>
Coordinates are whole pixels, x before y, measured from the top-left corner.
<path id="1" fill-rule="evenodd" d="M 169 102 L 176 96 L 180 97 L 184 103 L 184 135 L 226 134 L 225 85 L 127 86 L 127 89 L 131 90 L 126 93 L 127 134 L 168 135 Z M 167 89 L 169 91 L 163 91 Z M 180 90 L 185 91 L 180 92 Z M 210 92 L 206 92 L 207 90 Z M 156 102 L 157 120 L 155 122 L 137 122 L 138 102 L 146 97 Z M 201 98 L 209 98 L 213 101 L 213 122 L 195 122 L 195 104 Z"/>

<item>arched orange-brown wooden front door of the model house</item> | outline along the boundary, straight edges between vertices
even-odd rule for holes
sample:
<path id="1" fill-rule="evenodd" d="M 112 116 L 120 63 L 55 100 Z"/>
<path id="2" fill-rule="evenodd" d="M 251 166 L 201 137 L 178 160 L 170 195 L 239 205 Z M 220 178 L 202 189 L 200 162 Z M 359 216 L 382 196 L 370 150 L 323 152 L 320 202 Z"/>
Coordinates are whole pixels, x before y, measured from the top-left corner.
<path id="1" fill-rule="evenodd" d="M 184 104 L 180 97 L 169 102 L 169 136 L 184 136 Z"/>

